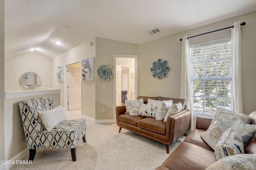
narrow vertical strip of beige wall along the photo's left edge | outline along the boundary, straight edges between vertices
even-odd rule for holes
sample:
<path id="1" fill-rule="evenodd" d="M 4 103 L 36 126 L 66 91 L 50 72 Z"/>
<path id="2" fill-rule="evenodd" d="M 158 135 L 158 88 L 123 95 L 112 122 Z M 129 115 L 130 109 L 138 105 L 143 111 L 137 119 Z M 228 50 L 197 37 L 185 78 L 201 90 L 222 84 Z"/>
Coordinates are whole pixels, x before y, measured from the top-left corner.
<path id="1" fill-rule="evenodd" d="M 0 160 L 4 160 L 4 0 L 0 0 L 0 79 Z"/>

